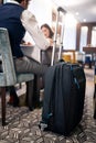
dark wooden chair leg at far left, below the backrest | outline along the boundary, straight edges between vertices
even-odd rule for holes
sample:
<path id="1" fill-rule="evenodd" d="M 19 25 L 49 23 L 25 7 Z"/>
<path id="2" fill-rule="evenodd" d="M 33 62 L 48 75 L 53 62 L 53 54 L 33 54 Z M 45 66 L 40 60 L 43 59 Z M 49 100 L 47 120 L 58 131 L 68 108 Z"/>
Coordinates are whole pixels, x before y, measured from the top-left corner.
<path id="1" fill-rule="evenodd" d="M 1 87 L 1 114 L 2 125 L 6 125 L 6 87 Z"/>

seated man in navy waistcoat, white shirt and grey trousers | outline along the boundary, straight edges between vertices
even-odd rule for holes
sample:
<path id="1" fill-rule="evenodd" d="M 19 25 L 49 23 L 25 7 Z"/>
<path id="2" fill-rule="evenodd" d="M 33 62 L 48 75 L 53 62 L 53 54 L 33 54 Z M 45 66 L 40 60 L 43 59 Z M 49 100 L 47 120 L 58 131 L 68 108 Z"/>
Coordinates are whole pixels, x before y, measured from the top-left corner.
<path id="1" fill-rule="evenodd" d="M 52 41 L 46 40 L 41 29 L 39 29 L 35 16 L 25 10 L 28 4 L 29 0 L 12 0 L 1 4 L 0 28 L 8 29 L 17 73 L 32 73 L 44 76 L 47 65 L 25 56 L 20 47 L 25 30 L 33 37 L 38 50 L 47 50 L 52 45 Z M 39 57 L 39 53 L 36 55 Z M 15 100 L 15 97 L 18 98 L 18 96 L 13 95 L 13 100 Z"/>

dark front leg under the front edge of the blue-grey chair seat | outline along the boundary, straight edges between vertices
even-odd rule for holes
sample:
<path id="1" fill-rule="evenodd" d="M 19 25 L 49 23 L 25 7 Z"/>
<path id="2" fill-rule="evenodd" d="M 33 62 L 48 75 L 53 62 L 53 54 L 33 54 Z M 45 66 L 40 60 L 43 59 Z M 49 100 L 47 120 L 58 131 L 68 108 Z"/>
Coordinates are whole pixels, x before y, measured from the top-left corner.
<path id="1" fill-rule="evenodd" d="M 26 106 L 32 111 L 33 110 L 33 80 L 26 81 Z"/>

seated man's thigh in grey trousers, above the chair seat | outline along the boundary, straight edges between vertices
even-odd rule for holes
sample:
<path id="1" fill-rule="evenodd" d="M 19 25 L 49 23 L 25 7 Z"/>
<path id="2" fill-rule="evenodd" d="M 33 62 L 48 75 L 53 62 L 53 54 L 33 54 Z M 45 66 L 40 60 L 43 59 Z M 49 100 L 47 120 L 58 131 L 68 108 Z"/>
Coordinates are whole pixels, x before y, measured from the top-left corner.
<path id="1" fill-rule="evenodd" d="M 32 58 L 24 57 L 23 59 L 14 59 L 17 73 L 32 73 L 38 76 L 43 76 L 47 70 L 47 65 L 40 64 Z"/>

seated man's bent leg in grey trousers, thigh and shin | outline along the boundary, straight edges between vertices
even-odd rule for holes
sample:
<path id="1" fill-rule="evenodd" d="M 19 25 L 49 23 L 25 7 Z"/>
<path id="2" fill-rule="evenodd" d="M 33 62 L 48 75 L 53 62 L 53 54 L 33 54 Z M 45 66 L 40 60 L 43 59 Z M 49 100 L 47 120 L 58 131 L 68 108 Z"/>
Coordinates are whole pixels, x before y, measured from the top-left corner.
<path id="1" fill-rule="evenodd" d="M 33 73 L 34 78 L 34 90 L 33 90 L 33 107 L 40 106 L 40 77 L 44 77 L 47 70 L 47 65 L 42 65 L 31 58 L 17 59 L 14 61 L 18 73 Z M 43 78 L 44 80 L 44 78 Z"/>

